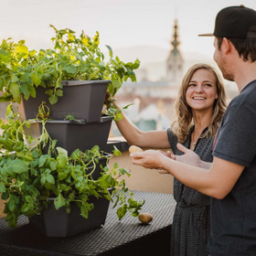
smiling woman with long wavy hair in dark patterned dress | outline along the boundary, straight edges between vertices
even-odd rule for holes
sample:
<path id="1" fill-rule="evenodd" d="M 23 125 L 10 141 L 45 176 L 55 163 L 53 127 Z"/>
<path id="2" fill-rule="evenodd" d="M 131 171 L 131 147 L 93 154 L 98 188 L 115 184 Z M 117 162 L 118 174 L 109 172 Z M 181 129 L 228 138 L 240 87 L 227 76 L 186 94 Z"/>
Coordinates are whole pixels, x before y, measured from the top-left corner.
<path id="1" fill-rule="evenodd" d="M 188 69 L 176 99 L 176 121 L 166 131 L 142 132 L 123 114 L 117 127 L 129 144 L 169 148 L 183 155 L 177 143 L 193 150 L 201 160 L 212 162 L 212 144 L 225 112 L 226 95 L 215 69 L 196 64 Z M 172 226 L 171 255 L 208 255 L 209 197 L 174 181 L 176 211 Z"/>

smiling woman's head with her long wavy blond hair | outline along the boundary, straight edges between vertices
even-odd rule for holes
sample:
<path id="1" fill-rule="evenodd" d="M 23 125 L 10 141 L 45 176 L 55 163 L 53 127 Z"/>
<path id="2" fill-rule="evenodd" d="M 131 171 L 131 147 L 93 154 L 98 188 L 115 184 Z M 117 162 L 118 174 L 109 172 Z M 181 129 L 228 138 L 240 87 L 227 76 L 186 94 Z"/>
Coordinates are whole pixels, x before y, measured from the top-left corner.
<path id="1" fill-rule="evenodd" d="M 207 64 L 192 66 L 184 76 L 176 100 L 177 118 L 172 123 L 172 130 L 175 131 L 178 142 L 185 142 L 193 123 L 194 142 L 206 127 L 208 131 L 202 135 L 203 137 L 217 133 L 225 107 L 226 93 L 216 69 Z M 201 127 L 198 127 L 199 123 Z M 193 148 L 192 144 L 191 148 Z"/>

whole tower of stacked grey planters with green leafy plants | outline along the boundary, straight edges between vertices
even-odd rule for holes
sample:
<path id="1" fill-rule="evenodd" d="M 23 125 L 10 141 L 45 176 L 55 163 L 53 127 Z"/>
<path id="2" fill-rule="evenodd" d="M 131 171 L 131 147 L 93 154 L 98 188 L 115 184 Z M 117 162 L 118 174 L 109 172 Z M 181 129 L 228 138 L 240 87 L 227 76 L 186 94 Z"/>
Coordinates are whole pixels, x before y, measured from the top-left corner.
<path id="1" fill-rule="evenodd" d="M 106 153 L 112 119 L 123 117 L 114 96 L 136 81 L 140 61 L 125 63 L 110 46 L 105 60 L 98 31 L 50 27 L 53 48 L 29 50 L 10 37 L 0 45 L 0 100 L 10 101 L 0 120 L 0 194 L 9 227 L 25 215 L 48 237 L 66 237 L 101 227 L 112 200 L 119 219 L 144 205 L 120 178 L 129 171 L 108 165 L 120 151 Z"/>

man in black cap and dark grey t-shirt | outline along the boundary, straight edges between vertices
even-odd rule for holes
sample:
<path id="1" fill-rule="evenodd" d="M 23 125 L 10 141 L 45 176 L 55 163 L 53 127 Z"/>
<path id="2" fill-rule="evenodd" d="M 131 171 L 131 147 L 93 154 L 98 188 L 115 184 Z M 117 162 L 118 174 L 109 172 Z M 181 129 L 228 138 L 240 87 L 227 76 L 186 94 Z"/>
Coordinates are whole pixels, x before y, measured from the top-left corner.
<path id="1" fill-rule="evenodd" d="M 158 151 L 133 153 L 133 164 L 162 169 L 211 199 L 211 256 L 256 255 L 256 11 L 240 6 L 216 17 L 214 60 L 240 94 L 230 103 L 214 145 L 211 165 L 185 153 L 174 161 Z M 181 162 L 185 162 L 181 163 Z M 194 166 L 192 166 L 194 165 Z M 197 166 L 195 166 L 197 165 Z"/>

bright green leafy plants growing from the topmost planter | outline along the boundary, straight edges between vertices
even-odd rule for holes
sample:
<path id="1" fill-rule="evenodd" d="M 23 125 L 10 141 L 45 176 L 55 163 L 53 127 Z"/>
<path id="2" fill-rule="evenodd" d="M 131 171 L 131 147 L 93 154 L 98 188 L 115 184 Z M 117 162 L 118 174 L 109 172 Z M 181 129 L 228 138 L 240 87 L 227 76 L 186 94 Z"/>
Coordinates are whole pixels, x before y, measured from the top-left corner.
<path id="1" fill-rule="evenodd" d="M 111 102 L 123 81 L 136 81 L 134 69 L 140 66 L 139 59 L 124 63 L 113 57 L 109 50 L 109 60 L 105 61 L 99 48 L 100 35 L 91 38 L 83 31 L 76 37 L 75 31 L 57 29 L 52 37 L 54 48 L 29 50 L 25 40 L 14 43 L 11 38 L 3 40 L 0 45 L 0 91 L 4 94 L 0 101 L 21 101 L 21 94 L 26 100 L 37 97 L 37 87 L 46 89 L 48 100 L 55 104 L 63 96 L 61 80 L 111 80 L 108 85 Z M 105 113 L 122 118 L 114 105 L 106 104 Z"/>

